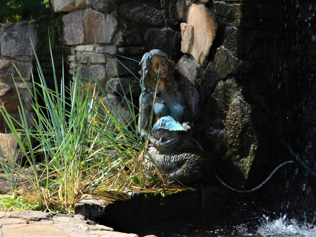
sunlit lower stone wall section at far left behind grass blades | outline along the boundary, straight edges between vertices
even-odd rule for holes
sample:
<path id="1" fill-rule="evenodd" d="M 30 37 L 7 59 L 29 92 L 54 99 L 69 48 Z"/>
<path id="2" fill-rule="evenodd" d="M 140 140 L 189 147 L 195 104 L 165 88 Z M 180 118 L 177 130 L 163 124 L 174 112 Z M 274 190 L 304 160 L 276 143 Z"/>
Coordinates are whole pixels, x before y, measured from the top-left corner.
<path id="1" fill-rule="evenodd" d="M 32 20 L 21 21 L 16 24 L 9 23 L 0 27 L 0 100 L 9 114 L 17 120 L 20 120 L 18 111 L 20 102 L 17 90 L 20 93 L 23 106 L 30 112 L 29 115 L 32 114 L 32 107 L 29 102 L 32 98 L 14 65 L 26 81 L 27 86 L 32 89 L 31 70 L 34 71 L 36 68 L 33 64 L 35 58 L 30 38 L 36 47 L 38 43 L 37 26 L 37 21 Z M 0 116 L 0 131 L 4 132 L 5 128 L 8 126 Z"/>

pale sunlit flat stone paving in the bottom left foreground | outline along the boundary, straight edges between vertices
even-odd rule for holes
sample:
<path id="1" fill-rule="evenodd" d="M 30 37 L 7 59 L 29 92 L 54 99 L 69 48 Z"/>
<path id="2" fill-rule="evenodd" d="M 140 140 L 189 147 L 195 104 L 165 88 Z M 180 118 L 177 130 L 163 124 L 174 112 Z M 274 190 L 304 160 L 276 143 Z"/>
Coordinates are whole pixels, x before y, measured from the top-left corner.
<path id="1" fill-rule="evenodd" d="M 111 227 L 91 224 L 84 216 L 32 210 L 0 211 L 0 236 L 138 237 L 137 234 L 117 232 Z"/>

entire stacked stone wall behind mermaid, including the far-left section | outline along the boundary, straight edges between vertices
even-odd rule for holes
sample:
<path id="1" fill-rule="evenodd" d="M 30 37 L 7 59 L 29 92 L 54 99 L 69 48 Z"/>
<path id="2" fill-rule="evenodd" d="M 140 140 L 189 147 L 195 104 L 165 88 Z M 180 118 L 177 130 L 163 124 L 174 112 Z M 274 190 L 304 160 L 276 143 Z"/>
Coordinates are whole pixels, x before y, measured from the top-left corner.
<path id="1" fill-rule="evenodd" d="M 295 38 L 293 30 L 297 22 L 300 27 L 308 26 L 308 19 L 313 19 L 312 15 L 307 17 L 312 14 L 312 4 L 304 10 L 287 0 L 50 2 L 60 23 L 59 44 L 69 62 L 70 80 L 77 69 L 91 80 L 98 77 L 117 105 L 121 102 L 120 84 L 124 90 L 131 85 L 133 101 L 138 101 L 138 62 L 144 52 L 160 49 L 176 62 L 175 78 L 186 98 L 193 137 L 215 159 L 227 161 L 227 171 L 222 169 L 224 181 L 243 188 L 252 177 L 255 181 L 250 185 L 255 185 L 265 178 L 260 167 L 269 170 L 275 166 L 277 159 L 270 147 L 290 130 L 287 117 L 291 106 L 284 105 L 291 99 L 289 75 L 295 74 L 302 54 L 316 52 L 311 41 L 315 32 L 309 32 L 313 24 L 305 30 L 311 38 L 309 52 L 301 50 L 300 38 Z M 293 20 L 296 17 L 297 22 Z M 0 27 L 0 99 L 14 116 L 17 94 L 11 73 L 24 103 L 29 94 L 12 62 L 30 83 L 34 56 L 27 35 L 36 45 L 37 25 L 30 21 Z M 312 60 L 308 58 L 308 62 L 307 71 L 312 70 Z M 277 119 L 275 107 L 284 111 Z M 124 104 L 121 110 L 128 113 Z M 2 118 L 0 121 L 3 129 L 5 124 Z M 276 125 L 271 126 L 273 123 Z M 312 124 L 309 122 L 311 130 Z"/>

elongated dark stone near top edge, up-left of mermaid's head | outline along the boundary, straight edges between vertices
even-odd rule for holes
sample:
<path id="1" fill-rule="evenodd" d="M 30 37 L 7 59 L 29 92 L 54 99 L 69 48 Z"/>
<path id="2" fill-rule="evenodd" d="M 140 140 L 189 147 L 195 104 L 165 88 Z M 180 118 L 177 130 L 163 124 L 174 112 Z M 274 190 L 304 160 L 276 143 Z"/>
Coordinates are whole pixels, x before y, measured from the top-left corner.
<path id="1" fill-rule="evenodd" d="M 123 3 L 118 9 L 120 17 L 137 23 L 162 26 L 164 23 L 161 11 L 144 3 L 134 1 Z"/>

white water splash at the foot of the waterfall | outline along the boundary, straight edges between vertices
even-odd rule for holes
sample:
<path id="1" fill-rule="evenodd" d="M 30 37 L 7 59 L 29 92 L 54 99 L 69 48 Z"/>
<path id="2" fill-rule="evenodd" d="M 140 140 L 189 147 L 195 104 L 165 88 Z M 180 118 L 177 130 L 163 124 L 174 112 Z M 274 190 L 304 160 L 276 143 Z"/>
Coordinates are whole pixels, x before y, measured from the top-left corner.
<path id="1" fill-rule="evenodd" d="M 257 234 L 263 237 L 315 237 L 316 226 L 307 222 L 302 224 L 296 219 L 288 220 L 284 215 L 275 221 L 266 220 L 258 228 Z"/>

